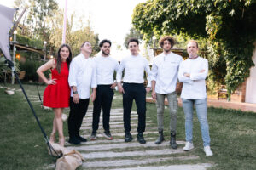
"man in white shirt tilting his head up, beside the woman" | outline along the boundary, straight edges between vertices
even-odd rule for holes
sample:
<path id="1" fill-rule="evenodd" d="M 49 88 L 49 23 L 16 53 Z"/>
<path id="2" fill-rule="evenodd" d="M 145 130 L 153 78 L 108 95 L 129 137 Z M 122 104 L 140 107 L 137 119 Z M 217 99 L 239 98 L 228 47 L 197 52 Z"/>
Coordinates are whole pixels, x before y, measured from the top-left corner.
<path id="1" fill-rule="evenodd" d="M 68 83 L 71 87 L 70 112 L 68 116 L 68 133 L 70 144 L 86 142 L 79 135 L 79 130 L 86 114 L 89 100 L 96 98 L 96 65 L 90 58 L 92 52 L 90 42 L 84 42 L 80 47 L 80 54 L 72 59 L 69 68 Z M 90 95 L 90 88 L 92 93 Z"/>

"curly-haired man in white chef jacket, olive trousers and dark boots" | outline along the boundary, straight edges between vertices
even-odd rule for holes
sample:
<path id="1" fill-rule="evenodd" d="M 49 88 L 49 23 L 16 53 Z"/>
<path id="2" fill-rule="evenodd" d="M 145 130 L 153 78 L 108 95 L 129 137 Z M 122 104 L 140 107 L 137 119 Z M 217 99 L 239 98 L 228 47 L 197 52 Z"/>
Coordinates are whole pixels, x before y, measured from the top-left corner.
<path id="1" fill-rule="evenodd" d="M 155 141 L 155 144 L 161 144 L 164 140 L 164 111 L 165 98 L 167 98 L 170 111 L 170 144 L 172 149 L 177 149 L 177 94 L 175 90 L 177 86 L 178 66 L 183 61 L 183 58 L 180 55 L 172 53 L 171 48 L 174 45 L 174 39 L 172 37 L 162 37 L 159 43 L 160 47 L 163 48 L 163 53 L 154 58 L 151 69 L 152 98 L 156 99 L 159 131 L 159 138 Z"/>

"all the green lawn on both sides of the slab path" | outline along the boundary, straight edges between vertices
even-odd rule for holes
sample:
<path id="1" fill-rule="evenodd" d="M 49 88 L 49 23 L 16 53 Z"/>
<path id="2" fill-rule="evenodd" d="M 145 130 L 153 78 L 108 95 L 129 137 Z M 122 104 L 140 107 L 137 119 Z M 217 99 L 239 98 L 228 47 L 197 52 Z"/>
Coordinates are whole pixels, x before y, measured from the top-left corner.
<path id="1" fill-rule="evenodd" d="M 3 86 L 3 84 L 0 84 Z M 18 85 L 11 86 L 16 89 Z M 24 85 L 27 94 L 37 96 L 34 85 Z M 39 86 L 41 95 L 44 86 Z M 121 94 L 116 93 L 115 96 Z M 35 99 L 32 99 L 35 100 Z M 53 112 L 43 111 L 40 103 L 32 103 L 38 118 L 49 135 L 52 128 Z M 122 99 L 113 100 L 113 108 L 121 108 Z M 133 110 L 136 110 L 133 105 Z M 32 115 L 26 99 L 21 92 L 7 95 L 0 88 L 0 169 L 44 169 L 53 163 L 48 155 L 46 144 L 35 118 Z M 147 104 L 147 116 L 152 119 L 155 127 L 156 107 Z M 169 112 L 165 110 L 165 136 L 170 138 Z M 256 169 L 256 113 L 224 109 L 208 109 L 211 147 L 214 156 L 206 157 L 203 152 L 201 131 L 196 114 L 194 119 L 195 150 L 188 155 L 200 156 L 200 162 L 210 162 L 212 170 Z M 182 108 L 178 109 L 177 140 L 185 139 L 184 115 Z M 64 122 L 64 133 L 67 136 L 67 122 Z M 148 135 L 150 136 L 150 135 Z M 155 135 L 152 135 L 152 137 Z M 193 163 L 194 161 L 164 161 L 164 165 Z M 195 161 L 195 163 L 198 161 Z M 162 165 L 162 163 L 161 163 Z M 81 167 L 79 169 L 82 169 Z"/>

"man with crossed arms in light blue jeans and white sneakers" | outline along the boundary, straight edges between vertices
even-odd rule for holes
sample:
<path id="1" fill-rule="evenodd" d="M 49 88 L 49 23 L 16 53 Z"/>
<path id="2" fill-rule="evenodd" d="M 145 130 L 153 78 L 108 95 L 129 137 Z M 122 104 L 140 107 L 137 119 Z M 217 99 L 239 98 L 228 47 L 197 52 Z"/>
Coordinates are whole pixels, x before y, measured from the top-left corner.
<path id="1" fill-rule="evenodd" d="M 185 114 L 186 145 L 183 150 L 194 148 L 193 144 L 193 106 L 200 122 L 201 136 L 206 156 L 212 156 L 210 148 L 209 126 L 207 122 L 207 89 L 208 61 L 198 56 L 198 43 L 191 40 L 187 44 L 189 59 L 179 67 L 178 79 L 183 82 L 181 98 Z"/>

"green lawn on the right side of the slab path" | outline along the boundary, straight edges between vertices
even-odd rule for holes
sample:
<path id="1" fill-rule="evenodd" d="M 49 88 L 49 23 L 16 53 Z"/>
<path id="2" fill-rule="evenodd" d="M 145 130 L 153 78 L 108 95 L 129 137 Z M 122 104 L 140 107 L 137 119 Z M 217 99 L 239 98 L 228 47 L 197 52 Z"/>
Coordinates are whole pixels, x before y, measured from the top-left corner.
<path id="1" fill-rule="evenodd" d="M 156 120 L 154 104 L 147 105 L 147 116 Z M 165 110 L 165 136 L 170 136 L 169 112 Z M 200 125 L 194 115 L 194 145 L 191 153 L 200 156 L 201 162 L 214 164 L 212 170 L 252 170 L 256 169 L 256 113 L 208 108 L 211 148 L 214 156 L 206 157 L 203 151 Z M 183 109 L 178 109 L 177 140 L 185 140 Z M 171 161 L 170 161 L 171 163 Z M 183 162 L 184 163 L 184 162 Z M 168 162 L 167 162 L 168 164 Z"/>

